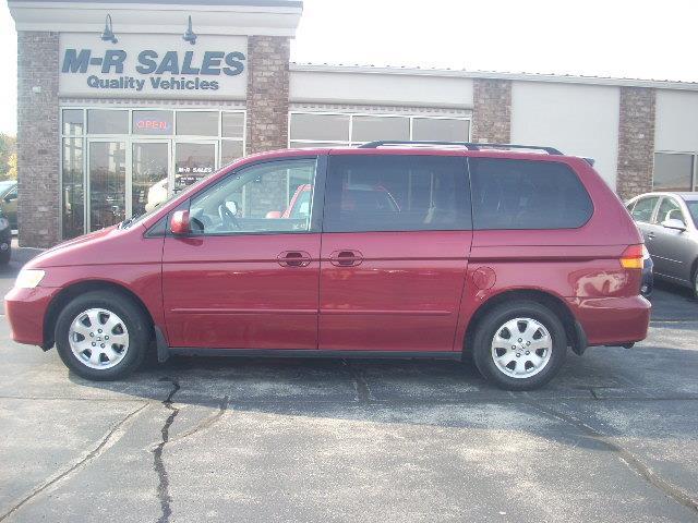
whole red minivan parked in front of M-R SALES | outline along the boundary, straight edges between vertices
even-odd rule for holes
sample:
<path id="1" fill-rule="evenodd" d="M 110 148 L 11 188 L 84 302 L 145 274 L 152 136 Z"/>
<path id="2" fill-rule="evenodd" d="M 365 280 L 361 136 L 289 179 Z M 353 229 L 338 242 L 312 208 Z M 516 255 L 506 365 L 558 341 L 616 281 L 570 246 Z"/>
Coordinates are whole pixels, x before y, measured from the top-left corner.
<path id="1" fill-rule="evenodd" d="M 37 256 L 5 308 L 15 341 L 88 379 L 147 351 L 433 357 L 524 390 L 567 348 L 647 336 L 641 271 L 637 228 L 582 158 L 376 142 L 240 159 Z"/>

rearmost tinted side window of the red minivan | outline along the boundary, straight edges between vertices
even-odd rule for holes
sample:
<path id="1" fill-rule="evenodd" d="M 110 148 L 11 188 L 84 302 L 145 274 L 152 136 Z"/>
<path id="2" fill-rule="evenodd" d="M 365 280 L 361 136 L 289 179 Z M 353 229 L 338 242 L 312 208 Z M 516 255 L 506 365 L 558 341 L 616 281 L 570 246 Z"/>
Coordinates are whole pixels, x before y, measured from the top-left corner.
<path id="1" fill-rule="evenodd" d="M 593 212 L 577 174 L 564 163 L 470 158 L 474 229 L 575 229 Z"/>

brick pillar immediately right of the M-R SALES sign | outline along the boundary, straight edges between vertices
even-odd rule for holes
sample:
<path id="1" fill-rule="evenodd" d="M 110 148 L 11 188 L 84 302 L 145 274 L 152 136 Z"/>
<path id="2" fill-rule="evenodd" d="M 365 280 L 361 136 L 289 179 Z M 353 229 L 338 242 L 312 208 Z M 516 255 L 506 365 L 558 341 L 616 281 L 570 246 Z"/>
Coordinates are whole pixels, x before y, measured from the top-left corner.
<path id="1" fill-rule="evenodd" d="M 248 39 L 246 153 L 288 147 L 289 38 Z"/>

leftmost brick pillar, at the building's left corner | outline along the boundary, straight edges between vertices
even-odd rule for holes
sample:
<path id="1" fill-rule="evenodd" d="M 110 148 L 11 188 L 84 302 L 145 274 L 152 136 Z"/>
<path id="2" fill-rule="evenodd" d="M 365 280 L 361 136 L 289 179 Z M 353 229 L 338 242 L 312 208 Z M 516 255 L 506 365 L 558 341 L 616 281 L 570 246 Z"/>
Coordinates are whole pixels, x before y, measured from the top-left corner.
<path id="1" fill-rule="evenodd" d="M 17 35 L 17 221 L 23 246 L 48 247 L 59 241 L 58 47 L 58 33 Z"/>

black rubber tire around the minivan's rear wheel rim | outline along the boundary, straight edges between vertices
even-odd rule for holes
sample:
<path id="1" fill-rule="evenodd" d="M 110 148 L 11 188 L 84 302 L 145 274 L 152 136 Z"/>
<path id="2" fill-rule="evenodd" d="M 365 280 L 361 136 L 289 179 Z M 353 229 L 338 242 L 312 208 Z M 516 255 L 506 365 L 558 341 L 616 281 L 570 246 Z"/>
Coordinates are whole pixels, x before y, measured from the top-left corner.
<path id="1" fill-rule="evenodd" d="M 516 318 L 531 318 L 540 323 L 547 330 L 551 338 L 547 363 L 537 374 L 528 377 L 515 378 L 508 376 L 495 364 L 493 356 L 492 345 L 495 335 L 503 332 L 504 325 Z M 526 324 L 521 323 L 521 325 L 525 326 Z M 514 340 L 513 343 L 516 344 L 517 341 L 518 339 Z M 512 349 L 514 346 L 512 345 Z M 500 350 L 497 349 L 496 351 Z M 506 351 L 508 352 L 508 346 Z M 526 351 L 526 346 L 521 349 L 521 354 L 524 351 Z M 471 352 L 480 374 L 485 379 L 493 381 L 497 387 L 506 390 L 532 390 L 547 384 L 559 372 L 567 355 L 567 336 L 562 321 L 552 311 L 538 302 L 521 300 L 497 305 L 479 321 L 473 336 Z M 516 351 L 513 352 L 516 353 Z M 541 352 L 541 354 L 546 354 L 546 352 Z M 526 357 L 515 360 L 513 362 L 514 369 L 520 363 L 529 365 L 524 362 Z"/>

